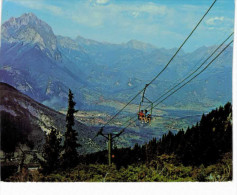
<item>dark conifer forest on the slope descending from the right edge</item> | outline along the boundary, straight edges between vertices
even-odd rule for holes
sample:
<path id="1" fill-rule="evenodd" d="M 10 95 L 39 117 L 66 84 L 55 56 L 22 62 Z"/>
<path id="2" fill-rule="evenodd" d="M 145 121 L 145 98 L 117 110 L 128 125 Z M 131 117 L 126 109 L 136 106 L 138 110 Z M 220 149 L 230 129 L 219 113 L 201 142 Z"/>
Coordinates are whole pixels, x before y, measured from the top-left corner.
<path id="1" fill-rule="evenodd" d="M 184 165 L 198 166 L 216 163 L 222 155 L 232 152 L 232 105 L 203 114 L 196 125 L 181 129 L 177 134 L 169 131 L 161 139 L 153 138 L 133 148 L 115 148 L 113 162 L 118 168 L 130 164 L 149 163 L 162 154 L 174 154 Z M 82 157 L 83 163 L 107 163 L 106 151 Z"/>

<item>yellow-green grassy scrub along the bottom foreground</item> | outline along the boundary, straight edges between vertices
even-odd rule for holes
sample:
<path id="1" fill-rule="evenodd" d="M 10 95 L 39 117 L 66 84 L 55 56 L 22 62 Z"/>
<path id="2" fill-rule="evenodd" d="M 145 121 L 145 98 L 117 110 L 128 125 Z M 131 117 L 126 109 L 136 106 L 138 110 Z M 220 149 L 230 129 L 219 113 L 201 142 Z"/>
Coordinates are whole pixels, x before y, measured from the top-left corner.
<path id="1" fill-rule="evenodd" d="M 216 164 L 204 167 L 183 166 L 174 163 L 174 155 L 162 155 L 149 164 L 129 165 L 117 170 L 115 165 L 80 164 L 69 171 L 59 171 L 44 176 L 38 171 L 16 174 L 8 181 L 45 182 L 186 182 L 231 181 L 232 154 L 227 153 Z"/>

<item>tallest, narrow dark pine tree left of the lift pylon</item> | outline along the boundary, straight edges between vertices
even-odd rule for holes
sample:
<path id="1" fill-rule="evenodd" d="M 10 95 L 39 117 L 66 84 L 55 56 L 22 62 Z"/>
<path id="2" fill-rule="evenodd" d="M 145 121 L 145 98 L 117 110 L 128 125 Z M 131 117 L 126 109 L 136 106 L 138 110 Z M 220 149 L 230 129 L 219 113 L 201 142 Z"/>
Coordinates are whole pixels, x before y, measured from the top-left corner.
<path id="1" fill-rule="evenodd" d="M 77 148 L 81 146 L 77 143 L 78 133 L 73 129 L 74 126 L 74 113 L 76 103 L 73 101 L 73 93 L 69 89 L 68 94 L 68 111 L 66 116 L 66 132 L 64 134 L 64 146 L 63 146 L 63 159 L 62 165 L 64 168 L 75 167 L 78 164 L 78 152 Z"/>

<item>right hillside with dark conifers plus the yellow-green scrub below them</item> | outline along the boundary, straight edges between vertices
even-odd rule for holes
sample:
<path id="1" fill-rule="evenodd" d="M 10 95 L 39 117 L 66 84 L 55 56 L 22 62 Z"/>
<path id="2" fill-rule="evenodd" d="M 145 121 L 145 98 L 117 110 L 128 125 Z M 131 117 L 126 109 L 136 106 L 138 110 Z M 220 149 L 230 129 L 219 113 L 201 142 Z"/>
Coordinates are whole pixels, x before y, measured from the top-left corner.
<path id="1" fill-rule="evenodd" d="M 232 105 L 203 115 L 195 126 L 133 148 L 80 156 L 70 170 L 14 175 L 10 181 L 229 181 L 232 180 Z"/>

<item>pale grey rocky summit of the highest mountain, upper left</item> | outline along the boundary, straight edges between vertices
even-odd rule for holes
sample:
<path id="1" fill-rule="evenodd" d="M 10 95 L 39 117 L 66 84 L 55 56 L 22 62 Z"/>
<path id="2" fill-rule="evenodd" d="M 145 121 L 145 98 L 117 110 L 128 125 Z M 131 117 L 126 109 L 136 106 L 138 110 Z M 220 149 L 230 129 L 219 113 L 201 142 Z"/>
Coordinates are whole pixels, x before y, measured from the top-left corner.
<path id="1" fill-rule="evenodd" d="M 46 55 L 55 60 L 61 59 L 52 28 L 33 13 L 12 17 L 2 24 L 2 39 L 10 43 L 38 45 Z"/>

